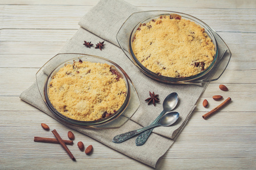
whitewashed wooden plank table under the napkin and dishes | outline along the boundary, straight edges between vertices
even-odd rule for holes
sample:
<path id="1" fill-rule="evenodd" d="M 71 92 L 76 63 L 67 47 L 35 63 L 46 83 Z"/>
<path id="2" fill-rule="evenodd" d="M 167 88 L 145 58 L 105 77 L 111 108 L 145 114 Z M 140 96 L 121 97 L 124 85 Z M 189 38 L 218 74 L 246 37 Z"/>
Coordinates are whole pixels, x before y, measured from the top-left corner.
<path id="1" fill-rule="evenodd" d="M 156 169 L 255 169 L 256 163 L 256 2 L 127 1 L 142 10 L 170 10 L 193 15 L 210 25 L 228 44 L 232 59 L 225 73 L 212 82 L 171 149 Z M 79 28 L 80 18 L 97 1 L 0 0 L 0 169 L 151 169 L 76 131 L 75 145 L 93 145 L 90 156 L 72 147 L 72 162 L 60 145 L 37 143 L 52 137 L 45 122 L 67 136 L 70 130 L 19 99 L 41 66 Z M 219 90 L 225 84 L 228 92 Z M 232 103 L 208 120 L 201 117 L 218 104 L 213 95 Z M 210 103 L 202 106 L 203 100 Z"/>

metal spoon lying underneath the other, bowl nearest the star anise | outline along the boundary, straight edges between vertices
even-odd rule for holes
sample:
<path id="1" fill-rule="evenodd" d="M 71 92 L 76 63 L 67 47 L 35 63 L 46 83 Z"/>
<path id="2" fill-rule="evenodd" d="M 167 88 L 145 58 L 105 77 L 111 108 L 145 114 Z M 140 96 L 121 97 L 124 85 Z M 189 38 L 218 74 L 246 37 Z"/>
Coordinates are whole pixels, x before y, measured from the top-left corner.
<path id="1" fill-rule="evenodd" d="M 166 99 L 164 99 L 163 101 L 163 112 L 159 114 L 159 116 L 155 119 L 154 122 L 151 123 L 151 125 L 158 122 L 160 118 L 164 115 L 164 113 L 172 111 L 176 107 L 178 101 L 179 101 L 179 96 L 177 95 L 176 92 L 173 92 L 170 95 L 168 95 Z M 153 129 L 154 128 L 149 129 L 147 131 L 144 131 L 142 134 L 140 134 L 135 141 L 136 145 L 137 146 L 143 145 L 147 141 L 147 138 L 150 136 Z"/>

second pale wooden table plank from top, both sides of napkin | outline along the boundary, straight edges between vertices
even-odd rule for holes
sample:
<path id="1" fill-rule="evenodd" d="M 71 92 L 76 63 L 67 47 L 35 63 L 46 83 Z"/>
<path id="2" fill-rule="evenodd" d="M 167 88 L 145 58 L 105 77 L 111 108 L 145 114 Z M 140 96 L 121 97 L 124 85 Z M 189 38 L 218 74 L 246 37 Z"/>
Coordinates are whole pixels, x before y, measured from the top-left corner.
<path id="1" fill-rule="evenodd" d="M 84 16 L 91 7 L 92 6 L 48 5 L 2 6 L 5 15 L 0 16 L 0 18 L 2 18 L 0 28 L 77 29 L 79 28 L 77 23 L 80 18 Z M 200 18 L 217 32 L 255 32 L 255 29 L 252 28 L 255 26 L 255 8 L 247 10 L 243 8 L 229 8 L 228 10 L 223 10 L 223 8 L 176 8 L 171 6 L 141 7 L 141 9 L 184 12 Z"/>

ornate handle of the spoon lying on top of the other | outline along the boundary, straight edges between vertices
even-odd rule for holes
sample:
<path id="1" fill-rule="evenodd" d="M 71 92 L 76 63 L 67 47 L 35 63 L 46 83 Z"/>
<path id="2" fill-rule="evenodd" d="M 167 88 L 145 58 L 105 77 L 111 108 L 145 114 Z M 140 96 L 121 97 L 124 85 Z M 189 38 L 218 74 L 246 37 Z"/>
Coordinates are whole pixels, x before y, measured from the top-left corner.
<path id="1" fill-rule="evenodd" d="M 123 133 L 123 134 L 116 135 L 112 139 L 112 142 L 114 142 L 114 143 L 121 143 L 121 142 L 126 141 L 127 139 L 133 137 L 134 135 L 142 133 L 142 131 L 148 130 L 150 128 L 154 128 L 155 126 L 159 126 L 159 125 L 160 124 L 149 125 L 149 126 L 146 126 L 146 127 L 142 128 L 142 129 L 133 130 L 133 131 L 129 131 L 129 132 L 126 132 L 126 133 Z"/>

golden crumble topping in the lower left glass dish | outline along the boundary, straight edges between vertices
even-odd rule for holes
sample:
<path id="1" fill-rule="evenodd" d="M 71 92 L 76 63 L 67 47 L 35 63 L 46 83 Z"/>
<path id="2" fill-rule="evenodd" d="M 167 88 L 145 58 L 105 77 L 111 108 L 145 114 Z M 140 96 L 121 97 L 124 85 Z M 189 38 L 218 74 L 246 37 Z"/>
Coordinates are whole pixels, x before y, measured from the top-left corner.
<path id="1" fill-rule="evenodd" d="M 62 67 L 49 83 L 48 97 L 64 116 L 96 121 L 118 111 L 126 99 L 126 83 L 106 63 L 81 61 Z"/>

